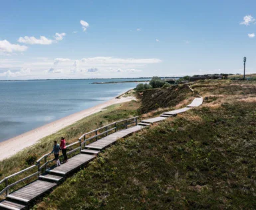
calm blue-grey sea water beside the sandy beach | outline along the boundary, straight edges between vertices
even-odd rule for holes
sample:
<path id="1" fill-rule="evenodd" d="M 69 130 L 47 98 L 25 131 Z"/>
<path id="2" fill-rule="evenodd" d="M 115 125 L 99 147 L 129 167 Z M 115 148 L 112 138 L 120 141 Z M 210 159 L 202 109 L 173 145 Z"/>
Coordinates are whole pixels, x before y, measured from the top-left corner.
<path id="1" fill-rule="evenodd" d="M 136 82 L 91 84 L 124 80 L 0 81 L 0 142 L 136 87 Z"/>

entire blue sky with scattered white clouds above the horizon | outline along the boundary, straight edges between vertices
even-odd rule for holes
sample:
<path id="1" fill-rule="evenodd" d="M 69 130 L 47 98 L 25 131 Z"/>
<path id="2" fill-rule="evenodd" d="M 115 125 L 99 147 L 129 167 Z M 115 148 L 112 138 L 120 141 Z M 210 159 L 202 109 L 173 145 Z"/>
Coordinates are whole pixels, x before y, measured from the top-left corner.
<path id="1" fill-rule="evenodd" d="M 256 72 L 255 0 L 0 5 L 0 80 Z"/>

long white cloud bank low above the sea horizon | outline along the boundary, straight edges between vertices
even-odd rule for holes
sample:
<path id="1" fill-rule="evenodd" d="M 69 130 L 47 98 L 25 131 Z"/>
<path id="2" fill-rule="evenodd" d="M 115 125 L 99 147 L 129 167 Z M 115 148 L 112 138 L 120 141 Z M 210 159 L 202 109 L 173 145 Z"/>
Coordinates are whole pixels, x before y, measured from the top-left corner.
<path id="1" fill-rule="evenodd" d="M 153 67 L 153 64 L 160 62 L 162 60 L 158 58 L 114 58 L 111 56 L 87 57 L 79 60 L 60 57 L 55 59 L 33 57 L 27 61 L 18 57 L 0 58 L 0 78 L 47 79 L 144 76 L 140 71 L 144 70 L 146 72 L 146 69 L 149 70 Z M 26 70 L 27 68 L 29 70 Z"/>

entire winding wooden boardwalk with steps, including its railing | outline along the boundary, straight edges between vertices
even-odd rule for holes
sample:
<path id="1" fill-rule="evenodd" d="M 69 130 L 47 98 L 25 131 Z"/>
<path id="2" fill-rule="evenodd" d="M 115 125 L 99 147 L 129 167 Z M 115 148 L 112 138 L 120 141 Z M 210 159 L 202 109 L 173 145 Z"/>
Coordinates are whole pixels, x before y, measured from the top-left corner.
<path id="1" fill-rule="evenodd" d="M 43 156 L 37 160 L 36 165 L 32 165 L 31 167 L 29 167 L 27 169 L 23 169 L 23 171 L 27 171 L 30 168 L 38 166 L 39 171 L 37 173 L 33 173 L 32 175 L 29 175 L 29 177 L 32 177 L 33 175 L 39 175 L 39 179 L 37 179 L 36 181 L 33 181 L 32 183 L 29 183 L 28 185 L 25 185 L 24 187 L 21 187 L 20 189 L 17 189 L 16 191 L 13 191 L 12 193 L 9 194 L 8 193 L 9 187 L 12 187 L 17 183 L 19 183 L 25 179 L 28 179 L 29 177 L 25 177 L 25 178 L 17 181 L 16 183 L 8 185 L 8 179 L 10 179 L 11 177 L 13 177 L 17 174 L 23 173 L 23 171 L 19 171 L 13 175 L 10 175 L 9 177 L 6 177 L 5 179 L 1 180 L 0 183 L 3 183 L 3 181 L 5 181 L 5 183 L 7 183 L 5 189 L 3 189 L 1 191 L 1 193 L 3 193 L 3 191 L 7 192 L 7 199 L 0 201 L 0 209 L 19 210 L 19 209 L 27 208 L 29 203 L 31 203 L 31 201 L 35 201 L 35 199 L 37 199 L 41 195 L 47 193 L 48 191 L 51 191 L 51 189 L 53 189 L 53 187 L 56 187 L 57 183 L 59 183 L 59 181 L 63 180 L 64 177 L 66 177 L 66 175 L 72 173 L 72 171 L 74 171 L 75 169 L 82 167 L 84 164 L 86 164 L 89 161 L 91 161 L 92 159 L 96 158 L 96 155 L 101 150 L 104 150 L 108 146 L 114 144 L 114 142 L 116 142 L 116 140 L 118 140 L 118 138 L 124 138 L 126 136 L 129 136 L 130 134 L 133 134 L 134 132 L 138 132 L 139 130 L 142 130 L 142 128 L 144 128 L 145 126 L 150 126 L 151 124 L 154 124 L 155 122 L 160 122 L 162 120 L 166 120 L 166 118 L 168 118 L 168 117 L 176 116 L 177 114 L 186 112 L 186 111 L 192 109 L 193 107 L 200 106 L 202 103 L 203 103 L 203 98 L 195 98 L 191 104 L 186 106 L 186 108 L 182 108 L 179 110 L 173 110 L 170 112 L 164 112 L 161 116 L 158 116 L 156 118 L 150 118 L 147 120 L 142 120 L 142 122 L 140 122 L 139 124 L 137 122 L 137 117 L 130 118 L 130 119 L 121 120 L 119 122 L 109 124 L 108 126 L 104 126 L 102 128 L 98 128 L 97 130 L 94 130 L 92 132 L 83 134 L 83 136 L 81 136 L 79 138 L 78 142 L 74 142 L 67 146 L 67 147 L 71 147 L 71 146 L 74 146 L 75 144 L 80 144 L 80 146 L 78 148 L 73 149 L 72 151 L 68 152 L 68 154 L 71 154 L 72 152 L 79 151 L 79 154 L 73 156 L 72 158 L 69 158 L 67 163 L 63 163 L 59 167 L 51 167 L 51 168 L 47 169 L 47 164 L 52 162 L 53 159 L 50 161 L 47 161 L 47 157 L 49 156 L 49 154 L 46 154 L 45 156 Z M 136 123 L 136 126 L 128 128 L 128 125 L 132 124 L 132 123 L 128 123 L 129 120 L 134 120 L 132 123 Z M 120 122 L 125 122 L 124 126 L 126 129 L 120 130 L 117 132 L 118 127 L 116 126 L 116 124 L 120 123 Z M 108 128 L 113 125 L 114 125 L 114 128 L 110 128 L 108 130 Z M 105 129 L 105 131 L 98 134 L 98 131 L 100 129 Z M 112 132 L 113 130 L 115 132 L 113 134 L 108 135 L 108 133 Z M 85 137 L 86 135 L 93 134 L 94 132 L 95 132 L 94 136 L 86 139 L 86 137 Z M 106 135 L 106 137 L 98 140 L 98 136 L 102 136 L 102 135 Z M 83 143 L 81 143 L 82 138 L 84 138 Z M 88 142 L 89 140 L 93 140 L 94 138 L 96 141 L 92 142 L 91 144 L 86 145 L 86 142 Z M 82 150 L 83 145 L 84 145 L 84 149 Z M 42 161 L 42 159 L 45 159 L 45 163 L 43 165 L 40 165 L 40 161 Z M 44 174 L 41 174 L 42 167 L 45 167 L 47 169 Z"/>

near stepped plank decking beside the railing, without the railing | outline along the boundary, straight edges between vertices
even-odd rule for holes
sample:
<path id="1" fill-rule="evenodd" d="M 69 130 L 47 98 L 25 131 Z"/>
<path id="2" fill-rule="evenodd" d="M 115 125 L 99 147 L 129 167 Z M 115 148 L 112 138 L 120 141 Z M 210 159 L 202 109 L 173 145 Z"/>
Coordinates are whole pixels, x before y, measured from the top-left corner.
<path id="1" fill-rule="evenodd" d="M 88 144 L 80 154 L 69 158 L 67 163 L 63 163 L 59 167 L 47 169 L 46 173 L 39 175 L 39 179 L 36 181 L 7 195 L 7 199 L 0 201 L 0 209 L 26 209 L 29 203 L 56 187 L 57 183 L 63 180 L 66 175 L 96 158 L 95 155 L 98 154 L 100 150 L 110 146 L 116 142 L 118 138 L 124 138 L 125 136 L 142 130 L 142 128 L 144 128 L 144 126 L 134 126 L 120 130 L 119 132 L 115 132 L 114 134 L 110 134 L 100 140 L 96 140 L 96 142 Z"/>

